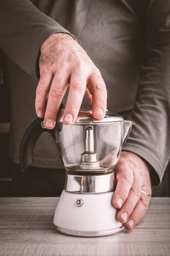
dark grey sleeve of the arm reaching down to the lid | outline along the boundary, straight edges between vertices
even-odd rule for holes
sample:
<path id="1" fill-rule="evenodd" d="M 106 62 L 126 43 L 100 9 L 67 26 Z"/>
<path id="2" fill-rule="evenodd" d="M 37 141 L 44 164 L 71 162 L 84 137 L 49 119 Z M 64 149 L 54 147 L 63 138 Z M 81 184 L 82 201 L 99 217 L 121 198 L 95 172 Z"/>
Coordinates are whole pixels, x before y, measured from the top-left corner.
<path id="1" fill-rule="evenodd" d="M 58 32 L 69 34 L 31 1 L 1 1 L 0 48 L 32 77 L 37 75 L 36 60 L 42 42 Z"/>

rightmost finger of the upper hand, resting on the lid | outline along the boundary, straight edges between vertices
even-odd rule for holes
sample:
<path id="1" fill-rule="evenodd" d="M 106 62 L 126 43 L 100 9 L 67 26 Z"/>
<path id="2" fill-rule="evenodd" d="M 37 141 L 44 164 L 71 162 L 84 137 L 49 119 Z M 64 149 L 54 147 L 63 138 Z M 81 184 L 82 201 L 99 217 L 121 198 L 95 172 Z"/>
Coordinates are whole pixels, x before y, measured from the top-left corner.
<path id="1" fill-rule="evenodd" d="M 93 117 L 104 118 L 107 110 L 107 89 L 101 75 L 91 75 L 90 93 L 93 95 Z"/>

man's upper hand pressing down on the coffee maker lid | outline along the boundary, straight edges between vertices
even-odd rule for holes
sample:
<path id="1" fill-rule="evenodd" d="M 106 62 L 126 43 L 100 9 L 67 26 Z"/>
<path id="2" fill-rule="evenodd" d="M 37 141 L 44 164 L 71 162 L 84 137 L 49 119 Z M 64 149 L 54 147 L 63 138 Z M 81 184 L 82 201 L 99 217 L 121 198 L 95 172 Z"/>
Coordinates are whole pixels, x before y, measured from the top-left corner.
<path id="1" fill-rule="evenodd" d="M 104 80 L 88 54 L 72 36 L 53 34 L 42 44 L 39 71 L 36 114 L 45 118 L 47 129 L 55 126 L 58 109 L 68 86 L 64 124 L 75 121 L 84 95 L 92 105 L 93 117 L 104 118 L 107 110 Z"/>

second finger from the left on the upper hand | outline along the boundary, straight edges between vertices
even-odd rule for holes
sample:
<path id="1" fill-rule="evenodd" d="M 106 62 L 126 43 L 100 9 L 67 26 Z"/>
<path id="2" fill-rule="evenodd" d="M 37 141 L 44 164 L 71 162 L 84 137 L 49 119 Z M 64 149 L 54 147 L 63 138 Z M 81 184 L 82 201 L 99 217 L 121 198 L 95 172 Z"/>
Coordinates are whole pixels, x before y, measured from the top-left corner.
<path id="1" fill-rule="evenodd" d="M 66 71 L 63 70 L 62 72 L 55 73 L 45 110 L 45 127 L 47 129 L 53 129 L 55 126 L 56 116 L 68 83 L 69 78 Z"/>

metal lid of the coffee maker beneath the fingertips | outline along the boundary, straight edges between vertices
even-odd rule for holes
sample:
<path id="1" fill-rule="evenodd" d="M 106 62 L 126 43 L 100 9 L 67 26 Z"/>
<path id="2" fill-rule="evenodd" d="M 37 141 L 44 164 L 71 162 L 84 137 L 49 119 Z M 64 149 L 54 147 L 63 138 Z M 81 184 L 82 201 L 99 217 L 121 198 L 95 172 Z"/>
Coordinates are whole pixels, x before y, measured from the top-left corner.
<path id="1" fill-rule="evenodd" d="M 109 111 L 107 111 L 103 119 L 97 120 L 93 118 L 92 110 L 81 109 L 74 125 L 111 124 L 119 121 L 123 121 L 123 117 Z M 58 122 L 63 122 L 63 109 L 58 114 Z"/>

